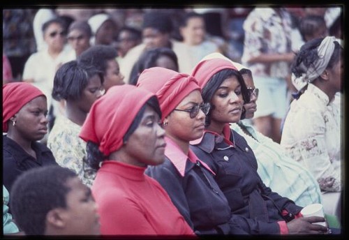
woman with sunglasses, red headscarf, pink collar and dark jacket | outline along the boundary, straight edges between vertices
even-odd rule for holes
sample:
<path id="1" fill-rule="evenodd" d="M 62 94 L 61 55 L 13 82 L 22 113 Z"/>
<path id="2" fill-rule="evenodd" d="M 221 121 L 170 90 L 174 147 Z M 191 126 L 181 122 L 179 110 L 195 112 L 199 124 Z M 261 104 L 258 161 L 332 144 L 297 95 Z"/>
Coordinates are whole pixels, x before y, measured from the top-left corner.
<path id="1" fill-rule="evenodd" d="M 155 67 L 143 71 L 138 87 L 158 96 L 166 132 L 165 163 L 149 166 L 146 173 L 165 188 L 196 234 L 246 234 L 230 221 L 230 207 L 214 173 L 189 149 L 189 141 L 202 136 L 209 111 L 196 80 Z"/>

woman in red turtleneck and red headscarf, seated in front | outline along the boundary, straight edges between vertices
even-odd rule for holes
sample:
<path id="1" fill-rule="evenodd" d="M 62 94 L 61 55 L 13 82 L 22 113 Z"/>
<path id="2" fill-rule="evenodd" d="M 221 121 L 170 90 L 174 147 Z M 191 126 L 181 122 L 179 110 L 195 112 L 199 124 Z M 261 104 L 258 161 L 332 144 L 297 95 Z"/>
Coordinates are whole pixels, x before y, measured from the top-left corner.
<path id="1" fill-rule="evenodd" d="M 164 160 L 160 118 L 156 96 L 128 84 L 111 87 L 91 107 L 80 137 L 98 170 L 92 193 L 103 235 L 193 236 L 165 190 L 144 174 Z"/>

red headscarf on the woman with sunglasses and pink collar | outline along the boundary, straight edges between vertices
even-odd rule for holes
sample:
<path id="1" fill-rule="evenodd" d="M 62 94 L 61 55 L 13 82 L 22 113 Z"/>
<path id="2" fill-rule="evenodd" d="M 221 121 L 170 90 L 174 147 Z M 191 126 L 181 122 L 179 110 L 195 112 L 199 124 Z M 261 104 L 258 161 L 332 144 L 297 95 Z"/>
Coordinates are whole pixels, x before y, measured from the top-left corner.
<path id="1" fill-rule="evenodd" d="M 163 114 L 162 121 L 181 100 L 194 90 L 200 90 L 195 78 L 167 68 L 147 68 L 138 77 L 137 87 L 156 93 Z"/>

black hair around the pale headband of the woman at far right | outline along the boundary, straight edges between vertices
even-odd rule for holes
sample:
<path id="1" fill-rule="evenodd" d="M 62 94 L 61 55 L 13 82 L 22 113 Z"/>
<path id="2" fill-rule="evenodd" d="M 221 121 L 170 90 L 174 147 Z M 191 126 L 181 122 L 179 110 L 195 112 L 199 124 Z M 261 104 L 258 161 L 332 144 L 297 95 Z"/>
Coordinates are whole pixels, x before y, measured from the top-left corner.
<path id="1" fill-rule="evenodd" d="M 320 46 L 323 39 L 324 38 L 315 38 L 302 45 L 291 66 L 291 71 L 295 77 L 300 77 L 303 73 L 306 73 L 308 68 L 313 66 L 313 63 L 320 59 L 318 55 L 318 46 Z M 335 41 L 334 52 L 326 68 L 333 68 L 334 65 L 338 63 L 339 59 L 341 59 L 342 50 L 343 48 L 341 45 Z"/>

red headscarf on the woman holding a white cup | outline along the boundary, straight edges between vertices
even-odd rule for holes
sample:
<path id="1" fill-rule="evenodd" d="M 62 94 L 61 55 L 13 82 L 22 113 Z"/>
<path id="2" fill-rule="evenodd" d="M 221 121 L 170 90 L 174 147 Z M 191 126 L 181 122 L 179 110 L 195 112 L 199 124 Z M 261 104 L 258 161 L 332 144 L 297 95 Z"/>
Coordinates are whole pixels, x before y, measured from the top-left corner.
<path id="1" fill-rule="evenodd" d="M 198 63 L 198 65 L 193 69 L 191 75 L 198 80 L 198 84 L 202 89 L 213 75 L 223 69 L 237 70 L 237 68 L 229 60 L 218 58 L 207 59 L 205 61 L 200 61 L 200 63 Z"/>

